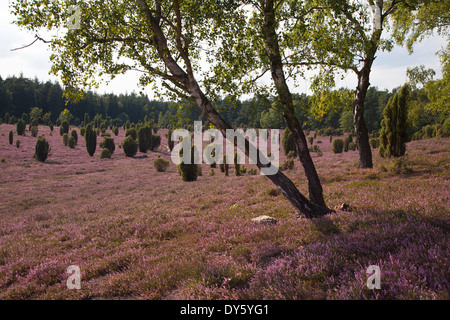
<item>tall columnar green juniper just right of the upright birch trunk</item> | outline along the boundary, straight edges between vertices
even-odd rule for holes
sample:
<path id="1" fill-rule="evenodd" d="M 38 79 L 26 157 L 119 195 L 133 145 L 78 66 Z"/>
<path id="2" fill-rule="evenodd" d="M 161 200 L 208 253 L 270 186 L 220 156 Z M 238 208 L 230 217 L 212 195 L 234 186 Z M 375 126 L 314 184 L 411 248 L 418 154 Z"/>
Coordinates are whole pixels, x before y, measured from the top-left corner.
<path id="1" fill-rule="evenodd" d="M 383 110 L 380 134 L 380 146 L 383 146 L 383 148 L 380 147 L 378 152 L 383 158 L 401 157 L 406 152 L 406 142 L 408 141 L 408 96 L 409 86 L 404 85 L 399 93 L 389 99 L 387 106 Z"/>

